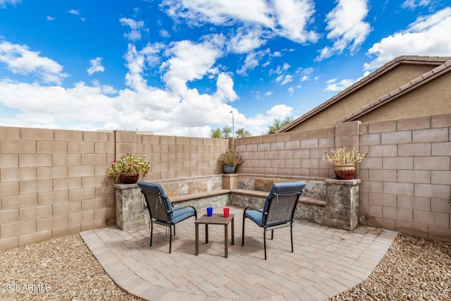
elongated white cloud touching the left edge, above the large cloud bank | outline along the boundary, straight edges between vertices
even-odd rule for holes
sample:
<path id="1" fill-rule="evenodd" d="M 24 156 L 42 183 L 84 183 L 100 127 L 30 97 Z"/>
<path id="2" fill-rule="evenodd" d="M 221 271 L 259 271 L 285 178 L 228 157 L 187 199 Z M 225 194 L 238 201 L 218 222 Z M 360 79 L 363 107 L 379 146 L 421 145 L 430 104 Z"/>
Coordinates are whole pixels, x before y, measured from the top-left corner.
<path id="1" fill-rule="evenodd" d="M 6 68 L 13 73 L 37 73 L 46 83 L 61 84 L 63 78 L 68 77 L 62 72 L 63 66 L 56 61 L 40 56 L 39 52 L 30 51 L 26 46 L 7 41 L 0 43 L 0 62 L 6 63 Z"/>

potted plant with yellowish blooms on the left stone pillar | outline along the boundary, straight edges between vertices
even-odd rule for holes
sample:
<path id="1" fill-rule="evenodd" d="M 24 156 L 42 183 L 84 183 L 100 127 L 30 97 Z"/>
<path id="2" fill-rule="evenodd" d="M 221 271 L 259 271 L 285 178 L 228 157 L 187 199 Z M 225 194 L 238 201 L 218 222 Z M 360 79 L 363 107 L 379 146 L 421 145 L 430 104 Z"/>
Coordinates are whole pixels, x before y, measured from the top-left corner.
<path id="1" fill-rule="evenodd" d="M 146 160 L 146 156 L 138 158 L 136 154 L 123 154 L 121 159 L 111 161 L 111 167 L 106 168 L 106 176 L 116 178 L 124 184 L 137 183 L 142 175 L 144 178 L 149 173 L 151 164 Z"/>

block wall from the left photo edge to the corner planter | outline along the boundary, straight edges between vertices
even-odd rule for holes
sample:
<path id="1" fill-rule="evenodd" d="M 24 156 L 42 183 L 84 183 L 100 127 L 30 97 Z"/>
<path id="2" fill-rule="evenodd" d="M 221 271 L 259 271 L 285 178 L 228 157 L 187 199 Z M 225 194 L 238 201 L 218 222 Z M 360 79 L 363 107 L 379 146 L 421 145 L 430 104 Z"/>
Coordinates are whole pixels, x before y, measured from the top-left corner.
<path id="1" fill-rule="evenodd" d="M 111 160 L 152 162 L 146 180 L 222 173 L 224 139 L 0 127 L 0 249 L 115 224 Z"/>

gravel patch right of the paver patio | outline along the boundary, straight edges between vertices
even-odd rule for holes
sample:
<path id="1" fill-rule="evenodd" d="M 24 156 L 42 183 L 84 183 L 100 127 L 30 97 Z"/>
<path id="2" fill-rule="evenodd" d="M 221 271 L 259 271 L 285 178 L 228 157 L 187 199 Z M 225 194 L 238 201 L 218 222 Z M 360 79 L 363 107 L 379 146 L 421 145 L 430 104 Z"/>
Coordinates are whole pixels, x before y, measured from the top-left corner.
<path id="1" fill-rule="evenodd" d="M 397 235 L 366 281 L 330 300 L 451 300 L 451 243 Z"/>

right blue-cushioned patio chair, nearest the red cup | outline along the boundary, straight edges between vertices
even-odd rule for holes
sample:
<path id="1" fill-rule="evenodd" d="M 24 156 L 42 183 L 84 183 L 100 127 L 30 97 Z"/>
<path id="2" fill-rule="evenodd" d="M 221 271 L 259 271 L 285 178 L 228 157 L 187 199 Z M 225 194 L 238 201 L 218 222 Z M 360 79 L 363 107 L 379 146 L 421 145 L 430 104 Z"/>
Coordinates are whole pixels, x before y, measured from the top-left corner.
<path id="1" fill-rule="evenodd" d="M 266 231 L 271 230 L 271 240 L 273 239 L 274 229 L 290 226 L 291 252 L 293 252 L 293 216 L 299 196 L 302 195 L 305 183 L 278 183 L 273 184 L 271 191 L 266 197 L 263 209 L 254 209 L 246 207 L 242 214 L 242 243 L 245 245 L 245 219 L 249 218 L 261 228 L 263 228 L 263 241 L 266 260 Z"/>

